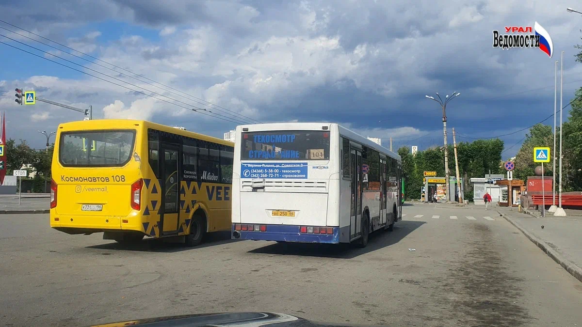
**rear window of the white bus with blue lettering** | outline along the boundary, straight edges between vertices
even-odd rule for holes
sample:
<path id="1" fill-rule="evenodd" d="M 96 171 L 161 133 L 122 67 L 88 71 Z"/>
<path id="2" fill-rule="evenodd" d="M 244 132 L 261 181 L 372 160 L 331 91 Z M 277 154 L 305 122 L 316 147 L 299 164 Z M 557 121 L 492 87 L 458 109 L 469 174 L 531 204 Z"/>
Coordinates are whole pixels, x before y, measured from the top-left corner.
<path id="1" fill-rule="evenodd" d="M 242 160 L 329 160 L 329 131 L 242 134 Z"/>

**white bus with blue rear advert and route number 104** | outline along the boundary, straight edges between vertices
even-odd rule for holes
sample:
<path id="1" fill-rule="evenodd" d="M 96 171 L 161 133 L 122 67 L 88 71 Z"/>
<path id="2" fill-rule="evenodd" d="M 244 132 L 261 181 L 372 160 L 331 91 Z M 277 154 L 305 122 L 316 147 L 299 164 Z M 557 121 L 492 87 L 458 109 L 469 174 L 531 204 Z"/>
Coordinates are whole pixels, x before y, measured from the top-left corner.
<path id="1" fill-rule="evenodd" d="M 232 238 L 357 243 L 402 219 L 400 156 L 335 123 L 236 127 Z"/>

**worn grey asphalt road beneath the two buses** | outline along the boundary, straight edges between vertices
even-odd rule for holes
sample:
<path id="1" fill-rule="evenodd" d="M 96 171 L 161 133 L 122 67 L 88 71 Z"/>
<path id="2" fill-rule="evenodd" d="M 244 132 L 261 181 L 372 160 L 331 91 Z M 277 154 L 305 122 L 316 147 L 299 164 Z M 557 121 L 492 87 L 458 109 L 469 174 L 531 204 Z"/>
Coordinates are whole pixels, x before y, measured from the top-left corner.
<path id="1" fill-rule="evenodd" d="M 364 249 L 229 234 L 196 248 L 122 247 L 51 230 L 48 215 L 2 215 L 0 324 L 275 311 L 390 326 L 581 325 L 582 283 L 496 211 L 418 204 L 404 212 Z"/>

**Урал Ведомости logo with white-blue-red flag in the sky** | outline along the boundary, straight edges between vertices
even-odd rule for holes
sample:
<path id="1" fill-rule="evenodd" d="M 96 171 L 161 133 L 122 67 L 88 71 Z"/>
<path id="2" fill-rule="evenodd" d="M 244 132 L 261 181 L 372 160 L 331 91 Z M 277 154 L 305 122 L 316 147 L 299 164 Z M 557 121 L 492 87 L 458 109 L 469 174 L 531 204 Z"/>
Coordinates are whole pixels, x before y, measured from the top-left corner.
<path id="1" fill-rule="evenodd" d="M 493 30 L 493 47 L 501 49 L 538 48 L 549 58 L 552 58 L 553 54 L 552 38 L 538 22 L 534 23 L 533 28 L 531 26 L 506 26 L 505 34 Z"/>

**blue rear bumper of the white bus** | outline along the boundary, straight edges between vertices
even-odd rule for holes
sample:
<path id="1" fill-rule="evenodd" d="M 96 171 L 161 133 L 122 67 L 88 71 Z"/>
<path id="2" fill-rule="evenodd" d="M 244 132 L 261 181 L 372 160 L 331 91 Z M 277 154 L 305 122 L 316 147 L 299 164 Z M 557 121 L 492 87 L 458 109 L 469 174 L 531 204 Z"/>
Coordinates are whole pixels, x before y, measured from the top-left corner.
<path id="1" fill-rule="evenodd" d="M 236 230 L 236 225 L 232 224 L 232 239 L 235 240 L 261 240 L 261 241 L 282 241 L 282 242 L 301 242 L 301 243 L 339 243 L 339 227 L 333 228 L 333 234 L 315 234 L 301 233 L 300 226 L 297 225 L 264 225 L 265 232 Z M 251 225 L 251 224 L 243 224 Z"/>

